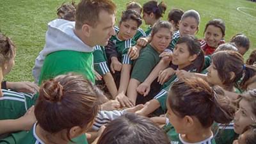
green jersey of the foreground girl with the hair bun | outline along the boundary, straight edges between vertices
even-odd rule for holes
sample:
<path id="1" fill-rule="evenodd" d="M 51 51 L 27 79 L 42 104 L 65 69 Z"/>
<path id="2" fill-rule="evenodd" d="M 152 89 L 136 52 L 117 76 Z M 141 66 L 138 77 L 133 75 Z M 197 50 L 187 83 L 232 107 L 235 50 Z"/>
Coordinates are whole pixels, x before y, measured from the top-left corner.
<path id="1" fill-rule="evenodd" d="M 76 138 L 72 138 L 72 141 L 76 144 L 88 144 L 85 134 L 81 134 Z M 18 144 L 45 144 L 39 136 L 36 134 L 36 123 L 33 125 L 33 128 L 26 134 L 26 136 Z M 73 144 L 72 142 L 69 142 Z"/>

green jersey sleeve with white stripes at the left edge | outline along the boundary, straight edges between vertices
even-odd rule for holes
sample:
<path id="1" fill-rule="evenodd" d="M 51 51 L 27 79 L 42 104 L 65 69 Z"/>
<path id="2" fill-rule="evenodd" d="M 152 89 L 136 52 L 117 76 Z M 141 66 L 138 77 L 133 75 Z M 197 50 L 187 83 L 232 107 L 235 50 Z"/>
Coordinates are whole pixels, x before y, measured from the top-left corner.
<path id="1" fill-rule="evenodd" d="M 35 98 L 29 93 L 18 93 L 2 89 L 0 97 L 0 120 L 16 119 L 23 116 L 35 104 Z"/>

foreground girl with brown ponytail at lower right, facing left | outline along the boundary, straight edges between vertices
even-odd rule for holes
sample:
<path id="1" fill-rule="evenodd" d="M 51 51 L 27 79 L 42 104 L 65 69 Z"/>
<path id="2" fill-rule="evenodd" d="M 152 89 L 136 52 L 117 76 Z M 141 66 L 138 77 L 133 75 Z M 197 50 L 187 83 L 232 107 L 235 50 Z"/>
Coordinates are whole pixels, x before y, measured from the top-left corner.
<path id="1" fill-rule="evenodd" d="M 228 102 L 203 79 L 191 77 L 175 82 L 167 102 L 171 143 L 215 143 L 211 125 L 232 120 Z"/>

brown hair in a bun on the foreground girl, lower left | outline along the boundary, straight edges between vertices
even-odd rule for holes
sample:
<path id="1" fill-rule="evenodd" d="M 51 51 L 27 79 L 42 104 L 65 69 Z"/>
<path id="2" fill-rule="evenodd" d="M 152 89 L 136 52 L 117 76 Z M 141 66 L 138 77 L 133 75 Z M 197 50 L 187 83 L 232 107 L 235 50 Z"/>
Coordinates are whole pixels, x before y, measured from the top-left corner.
<path id="1" fill-rule="evenodd" d="M 74 126 L 90 127 L 98 111 L 100 90 L 83 76 L 67 74 L 45 81 L 35 105 L 38 124 L 50 134 Z M 72 116 L 71 116 L 72 115 Z"/>

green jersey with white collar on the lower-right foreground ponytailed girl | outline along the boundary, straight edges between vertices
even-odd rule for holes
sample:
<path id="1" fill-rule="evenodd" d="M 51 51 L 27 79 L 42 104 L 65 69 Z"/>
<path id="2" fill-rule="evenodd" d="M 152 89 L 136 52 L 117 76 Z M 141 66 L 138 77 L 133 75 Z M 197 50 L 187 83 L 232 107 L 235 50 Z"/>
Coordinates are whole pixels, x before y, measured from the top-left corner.
<path id="1" fill-rule="evenodd" d="M 173 125 L 170 123 L 167 125 L 164 125 L 163 129 L 164 129 L 164 132 L 166 132 L 167 136 L 170 138 L 171 144 L 195 144 L 195 143 L 188 143 L 188 142 L 182 140 L 181 135 L 175 131 Z M 198 143 L 198 144 L 216 144 L 213 134 L 209 138 L 205 139 L 204 141 L 198 141 L 196 143 Z"/>

